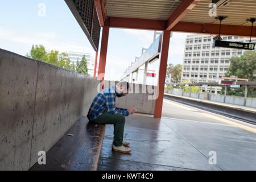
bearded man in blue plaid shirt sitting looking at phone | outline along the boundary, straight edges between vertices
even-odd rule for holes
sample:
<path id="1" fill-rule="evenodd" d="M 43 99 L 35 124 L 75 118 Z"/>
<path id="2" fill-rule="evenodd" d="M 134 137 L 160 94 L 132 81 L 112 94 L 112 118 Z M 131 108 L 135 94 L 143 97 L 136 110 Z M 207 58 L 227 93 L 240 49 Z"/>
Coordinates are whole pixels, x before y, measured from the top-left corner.
<path id="1" fill-rule="evenodd" d="M 123 130 L 125 128 L 125 116 L 133 114 L 135 108 L 122 109 L 115 107 L 115 98 L 124 97 L 129 93 L 129 83 L 119 82 L 99 92 L 94 98 L 88 112 L 90 123 L 114 125 L 113 151 L 130 153 L 129 142 L 123 142 Z"/>

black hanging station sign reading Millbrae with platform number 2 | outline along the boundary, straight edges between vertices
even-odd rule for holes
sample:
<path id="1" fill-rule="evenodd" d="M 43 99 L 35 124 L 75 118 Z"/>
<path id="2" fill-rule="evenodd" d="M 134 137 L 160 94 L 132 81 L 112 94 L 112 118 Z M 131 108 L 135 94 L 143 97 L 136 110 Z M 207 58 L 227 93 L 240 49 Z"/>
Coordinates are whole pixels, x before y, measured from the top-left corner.
<path id="1" fill-rule="evenodd" d="M 254 50 L 254 48 L 255 48 L 254 43 L 229 42 L 229 41 L 222 41 L 222 40 L 215 40 L 214 46 L 215 47 L 247 49 L 247 50 Z"/>

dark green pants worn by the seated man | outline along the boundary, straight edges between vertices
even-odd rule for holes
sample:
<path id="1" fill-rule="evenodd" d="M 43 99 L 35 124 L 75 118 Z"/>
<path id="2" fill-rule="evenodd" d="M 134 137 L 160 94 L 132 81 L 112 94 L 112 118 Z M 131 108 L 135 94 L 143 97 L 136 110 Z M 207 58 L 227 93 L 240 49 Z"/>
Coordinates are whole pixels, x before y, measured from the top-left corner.
<path id="1" fill-rule="evenodd" d="M 114 125 L 114 141 L 116 147 L 123 145 L 123 130 L 125 129 L 125 117 L 121 114 L 104 113 L 94 119 L 92 123 L 96 124 L 113 124 Z"/>

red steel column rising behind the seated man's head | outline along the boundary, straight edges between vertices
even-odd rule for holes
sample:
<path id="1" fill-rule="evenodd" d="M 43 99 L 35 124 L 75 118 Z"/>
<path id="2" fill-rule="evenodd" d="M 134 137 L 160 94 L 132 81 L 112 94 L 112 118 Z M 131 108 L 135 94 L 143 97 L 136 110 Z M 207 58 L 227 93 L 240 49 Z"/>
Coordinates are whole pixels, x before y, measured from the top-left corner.
<path id="1" fill-rule="evenodd" d="M 103 27 L 102 37 L 101 37 L 100 63 L 98 65 L 98 79 L 101 80 L 102 84 L 104 81 L 105 68 L 106 68 L 106 55 L 107 55 L 107 51 L 108 51 L 108 40 L 109 40 L 109 27 Z"/>

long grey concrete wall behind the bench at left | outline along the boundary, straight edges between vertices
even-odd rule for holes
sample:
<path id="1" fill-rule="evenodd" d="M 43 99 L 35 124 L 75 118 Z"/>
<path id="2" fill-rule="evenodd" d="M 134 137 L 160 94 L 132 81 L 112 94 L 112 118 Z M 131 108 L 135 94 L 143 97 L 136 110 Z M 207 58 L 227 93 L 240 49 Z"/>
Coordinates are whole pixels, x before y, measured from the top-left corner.
<path id="1" fill-rule="evenodd" d="M 86 115 L 98 81 L 0 49 L 0 170 L 27 170 Z"/>

